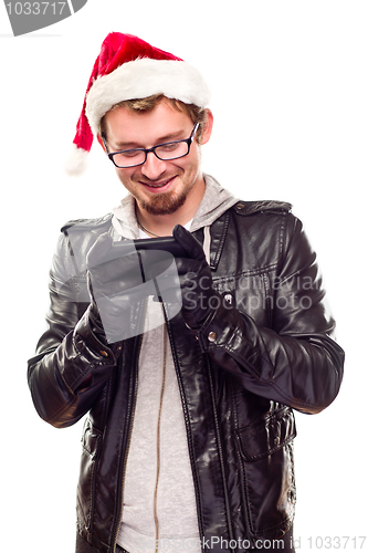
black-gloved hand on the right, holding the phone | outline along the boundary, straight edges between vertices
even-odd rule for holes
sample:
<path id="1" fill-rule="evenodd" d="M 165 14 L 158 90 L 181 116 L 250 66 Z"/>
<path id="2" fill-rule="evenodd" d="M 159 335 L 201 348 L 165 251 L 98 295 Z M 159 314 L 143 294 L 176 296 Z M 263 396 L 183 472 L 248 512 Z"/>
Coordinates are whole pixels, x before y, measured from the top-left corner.
<path id="1" fill-rule="evenodd" d="M 212 288 L 211 269 L 198 240 L 181 225 L 175 227 L 172 234 L 188 252 L 188 258 L 176 259 L 182 295 L 181 313 L 187 325 L 198 330 L 212 312 L 211 303 L 218 293 Z"/>

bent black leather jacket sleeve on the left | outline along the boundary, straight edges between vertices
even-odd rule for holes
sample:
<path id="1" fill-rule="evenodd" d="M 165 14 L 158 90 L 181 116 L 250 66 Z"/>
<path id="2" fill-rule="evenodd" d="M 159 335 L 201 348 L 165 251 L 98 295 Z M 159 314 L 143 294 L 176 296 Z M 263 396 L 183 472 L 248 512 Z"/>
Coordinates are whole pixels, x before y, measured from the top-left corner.
<path id="1" fill-rule="evenodd" d="M 120 346 L 97 338 L 84 275 L 62 234 L 50 272 L 48 330 L 29 361 L 28 382 L 40 417 L 63 428 L 83 417 L 111 376 Z M 82 300 L 82 302 L 81 302 Z"/>

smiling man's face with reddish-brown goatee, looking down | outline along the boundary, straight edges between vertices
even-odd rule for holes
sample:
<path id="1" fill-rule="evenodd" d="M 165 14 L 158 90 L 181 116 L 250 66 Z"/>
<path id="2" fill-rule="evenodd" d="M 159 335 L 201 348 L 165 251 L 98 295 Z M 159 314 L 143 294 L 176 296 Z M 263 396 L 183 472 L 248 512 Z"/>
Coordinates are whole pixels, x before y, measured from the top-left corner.
<path id="1" fill-rule="evenodd" d="M 105 116 L 108 152 L 151 148 L 158 144 L 187 139 L 192 128 L 190 117 L 176 111 L 165 100 L 151 112 L 135 113 L 120 107 Z M 204 131 L 202 144 L 210 134 L 211 129 Z M 116 167 L 116 173 L 139 208 L 150 215 L 170 215 L 185 204 L 197 201 L 199 189 L 202 190 L 203 186 L 200 146 L 196 138 L 186 157 L 162 161 L 149 153 L 144 165 L 127 169 Z"/>

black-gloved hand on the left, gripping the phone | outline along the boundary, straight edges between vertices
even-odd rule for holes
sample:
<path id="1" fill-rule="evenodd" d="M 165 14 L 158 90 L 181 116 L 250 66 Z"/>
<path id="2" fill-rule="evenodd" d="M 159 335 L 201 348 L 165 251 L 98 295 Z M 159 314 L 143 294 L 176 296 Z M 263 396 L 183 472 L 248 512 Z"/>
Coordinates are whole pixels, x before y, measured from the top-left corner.
<path id="1" fill-rule="evenodd" d="M 181 307 L 178 271 L 171 253 L 136 251 L 133 242 L 113 242 L 105 233 L 91 248 L 87 268 L 91 317 L 97 333 L 104 332 L 108 343 L 141 333 L 132 322 L 130 307 L 149 295 L 176 302 L 170 306 L 170 316 Z"/>

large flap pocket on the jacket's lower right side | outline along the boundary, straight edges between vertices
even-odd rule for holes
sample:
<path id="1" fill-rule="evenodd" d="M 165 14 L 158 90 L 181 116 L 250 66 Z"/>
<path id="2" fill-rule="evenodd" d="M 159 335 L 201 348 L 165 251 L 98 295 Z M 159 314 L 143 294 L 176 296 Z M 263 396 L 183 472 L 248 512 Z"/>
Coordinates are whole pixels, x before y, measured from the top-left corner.
<path id="1" fill-rule="evenodd" d="M 290 407 L 235 431 L 249 524 L 255 536 L 281 536 L 293 521 L 295 436 L 294 414 Z"/>

